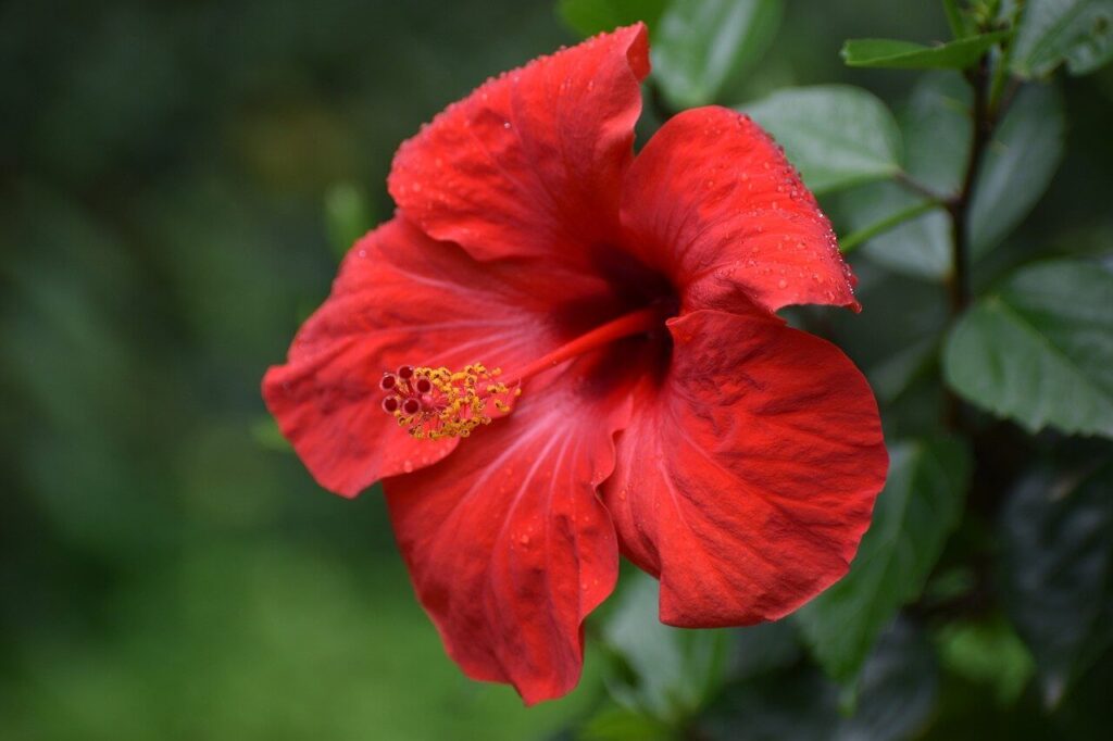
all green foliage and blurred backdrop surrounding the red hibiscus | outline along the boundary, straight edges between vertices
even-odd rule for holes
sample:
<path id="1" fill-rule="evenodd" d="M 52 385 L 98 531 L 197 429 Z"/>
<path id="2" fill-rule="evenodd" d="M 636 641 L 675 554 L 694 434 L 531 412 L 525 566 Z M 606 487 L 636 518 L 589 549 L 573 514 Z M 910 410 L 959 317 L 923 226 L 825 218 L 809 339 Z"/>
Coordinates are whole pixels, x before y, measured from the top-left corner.
<path id="1" fill-rule="evenodd" d="M 626 574 L 580 688 L 525 710 L 462 678 L 377 492 L 321 492 L 258 383 L 392 213 L 402 139 L 638 19 L 642 139 L 680 107 L 749 111 L 863 245 L 865 312 L 794 320 L 867 373 L 894 470 L 850 574 L 799 615 L 667 629 Z M 1101 738 L 1111 19 L 1109 0 L 0 4 L 0 738 Z M 874 40 L 858 67 L 847 39 Z M 964 188 L 986 50 L 1001 118 Z"/>

